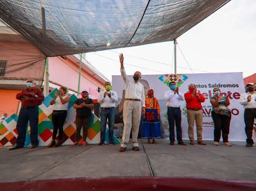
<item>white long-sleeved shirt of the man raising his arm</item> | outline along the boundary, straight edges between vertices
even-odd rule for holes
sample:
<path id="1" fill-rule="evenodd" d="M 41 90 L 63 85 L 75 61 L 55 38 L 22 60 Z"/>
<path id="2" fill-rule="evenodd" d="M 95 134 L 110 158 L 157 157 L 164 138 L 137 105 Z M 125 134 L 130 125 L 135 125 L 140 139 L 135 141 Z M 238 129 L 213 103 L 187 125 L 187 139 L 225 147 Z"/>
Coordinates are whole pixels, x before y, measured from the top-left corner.
<path id="1" fill-rule="evenodd" d="M 144 87 L 141 83 L 135 83 L 134 80 L 129 80 L 124 69 L 121 69 L 121 75 L 125 82 L 125 99 L 140 99 L 141 105 L 145 107 Z"/>

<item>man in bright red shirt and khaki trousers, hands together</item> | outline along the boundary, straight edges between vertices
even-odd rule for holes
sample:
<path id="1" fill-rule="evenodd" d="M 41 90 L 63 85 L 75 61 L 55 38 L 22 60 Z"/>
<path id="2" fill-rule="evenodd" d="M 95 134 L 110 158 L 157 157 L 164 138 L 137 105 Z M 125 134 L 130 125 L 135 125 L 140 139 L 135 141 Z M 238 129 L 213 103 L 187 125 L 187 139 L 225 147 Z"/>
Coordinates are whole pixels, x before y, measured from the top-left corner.
<path id="1" fill-rule="evenodd" d="M 188 138 L 190 139 L 190 145 L 194 145 L 194 125 L 196 120 L 197 128 L 197 143 L 198 145 L 206 145 L 203 142 L 203 110 L 202 104 L 205 98 L 202 94 L 197 92 L 197 88 L 193 83 L 188 85 L 189 92 L 184 94 L 187 106 L 187 118 L 188 118 Z"/>

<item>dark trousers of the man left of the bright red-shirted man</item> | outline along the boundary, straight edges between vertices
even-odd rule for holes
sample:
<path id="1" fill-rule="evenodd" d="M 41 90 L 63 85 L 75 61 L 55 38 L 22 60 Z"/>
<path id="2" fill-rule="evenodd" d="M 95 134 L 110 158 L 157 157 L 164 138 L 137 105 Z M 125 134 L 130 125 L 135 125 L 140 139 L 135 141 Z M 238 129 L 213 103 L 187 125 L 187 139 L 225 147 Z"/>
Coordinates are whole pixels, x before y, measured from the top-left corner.
<path id="1" fill-rule="evenodd" d="M 169 139 L 173 143 L 175 140 L 174 134 L 174 122 L 176 125 L 176 136 L 177 140 L 180 143 L 182 141 L 182 130 L 181 130 L 181 111 L 180 108 L 172 109 L 167 107 L 167 116 L 169 122 Z"/>

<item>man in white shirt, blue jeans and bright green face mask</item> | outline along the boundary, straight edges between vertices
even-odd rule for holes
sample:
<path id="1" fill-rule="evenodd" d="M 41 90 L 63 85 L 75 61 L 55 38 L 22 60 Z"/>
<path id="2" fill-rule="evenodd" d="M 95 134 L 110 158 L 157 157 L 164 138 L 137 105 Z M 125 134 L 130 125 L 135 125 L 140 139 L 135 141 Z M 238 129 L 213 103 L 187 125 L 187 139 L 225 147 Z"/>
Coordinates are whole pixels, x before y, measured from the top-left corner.
<path id="1" fill-rule="evenodd" d="M 101 142 L 99 145 L 104 145 L 106 134 L 106 121 L 108 119 L 108 138 L 110 139 L 110 145 L 115 145 L 113 140 L 114 135 L 114 123 L 115 123 L 115 103 L 117 103 L 117 92 L 111 90 L 111 83 L 105 82 L 106 92 L 100 92 L 98 97 L 98 103 L 101 104 Z"/>

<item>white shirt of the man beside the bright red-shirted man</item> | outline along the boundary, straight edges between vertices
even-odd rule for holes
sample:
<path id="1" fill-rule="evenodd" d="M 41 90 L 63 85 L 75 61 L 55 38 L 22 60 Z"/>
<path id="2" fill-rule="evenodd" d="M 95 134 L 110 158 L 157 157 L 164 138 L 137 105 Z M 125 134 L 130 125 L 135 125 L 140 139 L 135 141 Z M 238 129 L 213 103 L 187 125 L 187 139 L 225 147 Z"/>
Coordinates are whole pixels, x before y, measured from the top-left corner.
<path id="1" fill-rule="evenodd" d="M 167 90 L 164 93 L 164 97 L 166 98 L 166 106 L 173 108 L 179 108 L 181 101 L 184 100 L 181 92 L 178 92 L 178 94 L 174 94 L 173 90 Z"/>

